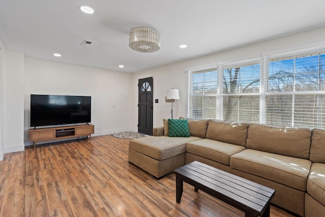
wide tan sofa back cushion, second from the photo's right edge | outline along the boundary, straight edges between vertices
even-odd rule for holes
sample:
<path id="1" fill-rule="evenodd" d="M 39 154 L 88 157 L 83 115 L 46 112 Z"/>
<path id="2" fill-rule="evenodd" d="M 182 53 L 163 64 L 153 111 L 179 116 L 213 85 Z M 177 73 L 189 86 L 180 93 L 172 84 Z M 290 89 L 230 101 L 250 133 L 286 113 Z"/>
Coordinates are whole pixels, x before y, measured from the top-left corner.
<path id="1" fill-rule="evenodd" d="M 280 128 L 250 123 L 246 147 L 309 159 L 311 130 L 308 128 Z"/>

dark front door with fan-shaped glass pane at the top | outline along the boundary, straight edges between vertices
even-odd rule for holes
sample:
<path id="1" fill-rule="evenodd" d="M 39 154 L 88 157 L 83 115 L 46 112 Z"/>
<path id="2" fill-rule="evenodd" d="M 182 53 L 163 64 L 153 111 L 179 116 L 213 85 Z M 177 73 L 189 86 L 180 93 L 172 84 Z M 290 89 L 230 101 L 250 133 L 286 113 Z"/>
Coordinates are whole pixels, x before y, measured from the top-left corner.
<path id="1" fill-rule="evenodd" d="M 138 132 L 152 135 L 153 78 L 139 79 Z"/>

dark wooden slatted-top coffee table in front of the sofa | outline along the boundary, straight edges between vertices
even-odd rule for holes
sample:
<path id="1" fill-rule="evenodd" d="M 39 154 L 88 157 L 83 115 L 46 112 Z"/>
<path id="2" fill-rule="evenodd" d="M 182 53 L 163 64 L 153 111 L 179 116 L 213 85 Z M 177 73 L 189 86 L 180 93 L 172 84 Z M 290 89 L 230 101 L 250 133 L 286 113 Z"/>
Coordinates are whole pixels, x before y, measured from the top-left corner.
<path id="1" fill-rule="evenodd" d="M 275 190 L 231 173 L 194 161 L 174 171 L 176 202 L 181 202 L 183 181 L 245 212 L 245 216 L 270 216 Z"/>

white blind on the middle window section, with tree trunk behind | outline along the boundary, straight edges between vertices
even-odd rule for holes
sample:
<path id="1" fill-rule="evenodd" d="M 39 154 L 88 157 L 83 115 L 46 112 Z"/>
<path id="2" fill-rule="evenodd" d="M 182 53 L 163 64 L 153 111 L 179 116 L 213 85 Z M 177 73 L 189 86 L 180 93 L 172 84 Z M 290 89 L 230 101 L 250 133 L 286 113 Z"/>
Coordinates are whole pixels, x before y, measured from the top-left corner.
<path id="1" fill-rule="evenodd" d="M 221 67 L 224 120 L 259 122 L 259 60 Z"/>

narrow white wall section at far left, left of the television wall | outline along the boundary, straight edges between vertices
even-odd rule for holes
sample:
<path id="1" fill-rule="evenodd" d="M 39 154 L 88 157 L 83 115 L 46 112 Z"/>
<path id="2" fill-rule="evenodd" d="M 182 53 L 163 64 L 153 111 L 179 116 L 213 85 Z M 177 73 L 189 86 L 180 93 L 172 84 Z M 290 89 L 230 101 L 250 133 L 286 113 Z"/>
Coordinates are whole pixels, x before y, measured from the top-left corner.
<path id="1" fill-rule="evenodd" d="M 24 54 L 3 52 L 3 153 L 24 150 Z"/>

